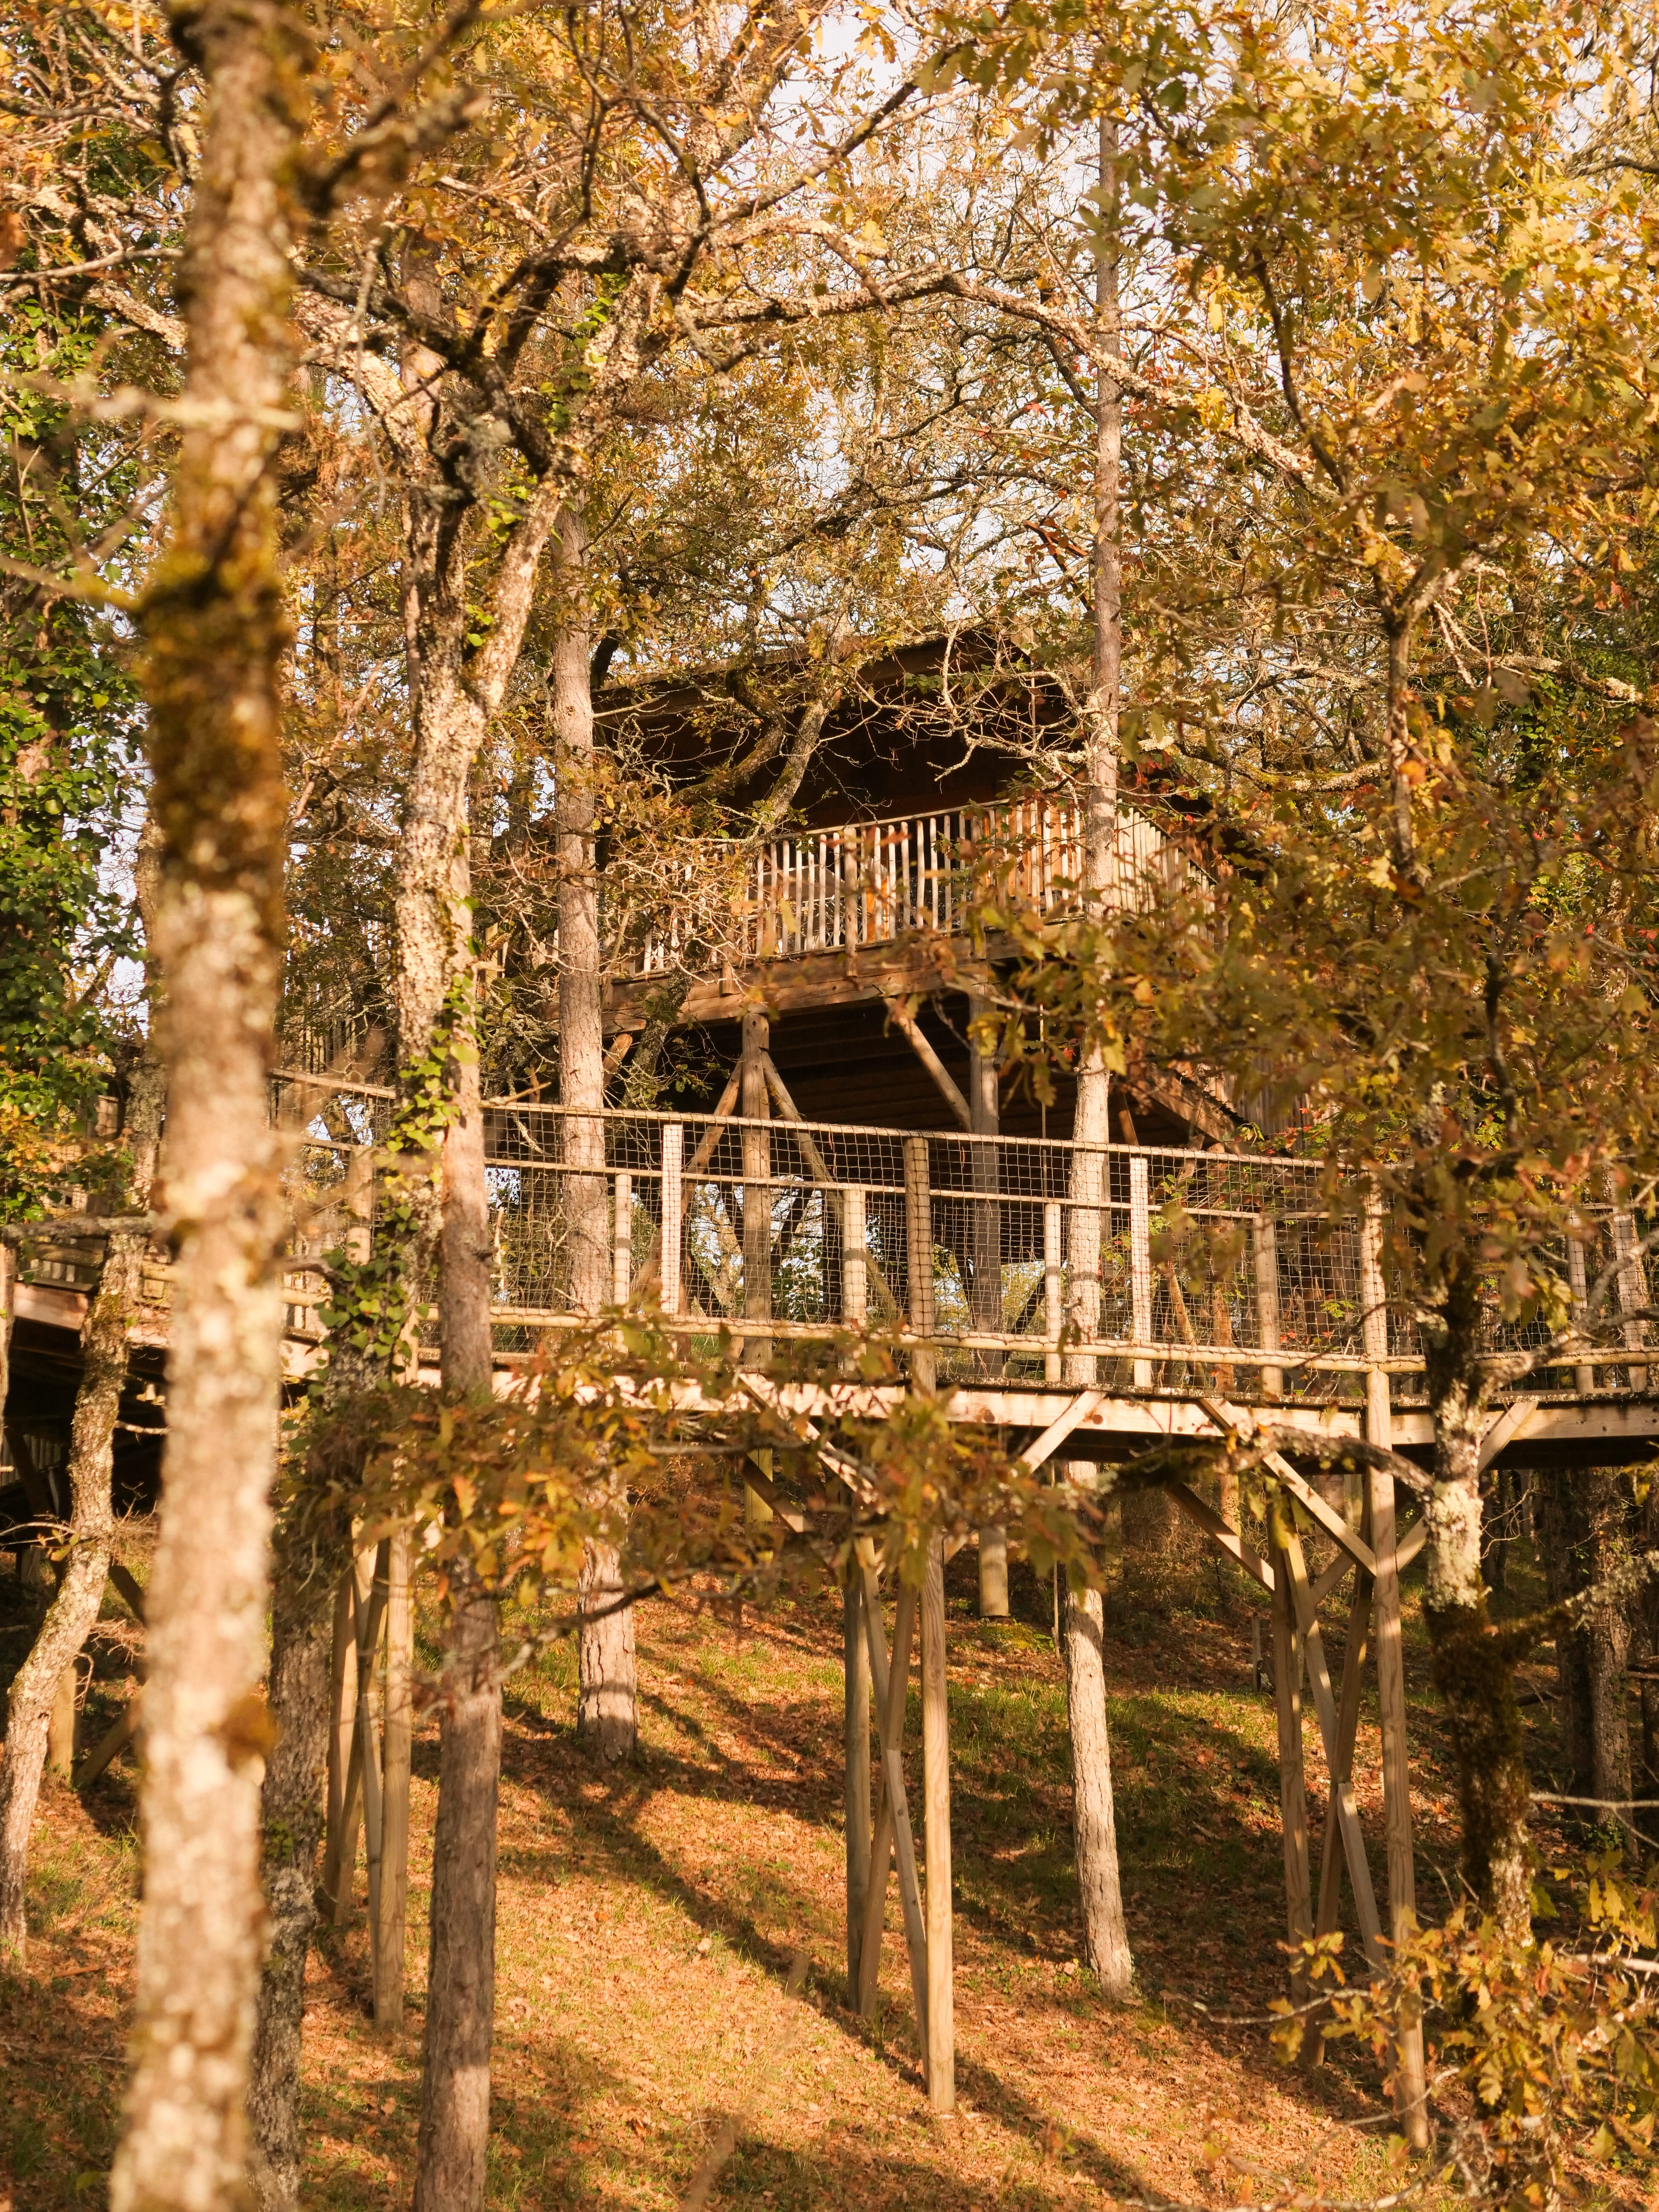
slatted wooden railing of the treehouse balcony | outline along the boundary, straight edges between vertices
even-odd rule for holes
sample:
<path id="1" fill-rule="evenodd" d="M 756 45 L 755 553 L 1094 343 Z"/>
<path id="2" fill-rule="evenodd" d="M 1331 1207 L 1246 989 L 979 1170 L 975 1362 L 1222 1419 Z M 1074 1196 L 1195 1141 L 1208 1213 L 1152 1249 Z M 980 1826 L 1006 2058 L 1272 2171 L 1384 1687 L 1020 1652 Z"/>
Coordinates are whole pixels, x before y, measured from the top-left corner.
<path id="1" fill-rule="evenodd" d="M 1183 867 L 1146 816 L 1115 816 L 1113 907 L 1148 905 Z M 635 971 L 679 967 L 690 947 L 712 940 L 748 964 L 889 945 L 916 929 L 953 936 L 993 883 L 1051 914 L 1075 894 L 1082 872 L 1082 810 L 1057 794 L 803 830 L 754 852 L 737 911 L 719 918 L 699 911 L 697 858 L 688 858 L 686 902 L 644 942 Z"/>

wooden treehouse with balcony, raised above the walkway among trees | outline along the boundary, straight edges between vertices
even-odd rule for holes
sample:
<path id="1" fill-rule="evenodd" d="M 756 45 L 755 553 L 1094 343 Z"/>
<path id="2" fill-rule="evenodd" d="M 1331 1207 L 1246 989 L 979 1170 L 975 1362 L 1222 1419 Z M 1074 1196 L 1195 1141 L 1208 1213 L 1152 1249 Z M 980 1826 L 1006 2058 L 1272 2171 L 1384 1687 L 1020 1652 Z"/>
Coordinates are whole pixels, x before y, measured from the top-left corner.
<path id="1" fill-rule="evenodd" d="M 787 827 L 688 838 L 670 863 L 679 900 L 670 885 L 633 940 L 602 918 L 615 947 L 611 1062 L 626 1075 L 635 1037 L 668 1015 L 675 1095 L 712 1102 L 721 1086 L 708 1071 L 743 1057 L 748 1018 L 750 1042 L 763 1033 L 805 1119 L 1071 1135 L 1064 1064 L 1044 1104 L 1029 1071 L 982 1064 L 971 1035 L 975 975 L 993 989 L 1009 953 L 995 936 L 973 942 L 975 905 L 1002 896 L 1053 916 L 1077 900 L 1079 741 L 1064 686 L 995 664 L 978 639 L 887 653 L 832 706 L 816 697 L 814 668 L 772 677 L 781 684 L 759 710 L 721 679 L 622 692 L 608 706 L 597 695 L 599 728 L 622 757 L 681 794 L 719 790 L 750 823 L 765 821 L 779 763 L 787 779 L 792 748 L 805 754 Z M 1108 900 L 1128 909 L 1203 872 L 1201 803 L 1170 790 L 1139 796 L 1130 783 L 1115 825 Z M 606 880 L 602 867 L 602 900 Z M 1124 1093 L 1117 1117 L 1150 1144 L 1214 1144 L 1241 1124 L 1175 1071 Z"/>

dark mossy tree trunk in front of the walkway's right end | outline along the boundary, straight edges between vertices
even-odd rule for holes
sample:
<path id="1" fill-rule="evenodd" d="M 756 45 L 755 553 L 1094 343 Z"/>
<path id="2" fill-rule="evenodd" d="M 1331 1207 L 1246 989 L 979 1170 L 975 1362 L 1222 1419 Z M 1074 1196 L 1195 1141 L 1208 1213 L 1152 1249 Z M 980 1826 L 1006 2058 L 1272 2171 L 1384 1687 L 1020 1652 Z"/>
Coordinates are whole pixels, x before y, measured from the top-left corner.
<path id="1" fill-rule="evenodd" d="M 1438 1321 L 1425 1327 L 1433 1407 L 1433 1489 L 1425 1517 L 1425 1615 L 1433 1679 L 1444 1699 L 1462 1798 L 1462 1871 L 1480 1907 L 1517 1942 L 1531 1933 L 1526 1871 L 1526 1745 L 1511 1661 L 1489 1635 L 1480 1577 L 1478 1387 L 1480 1285 L 1451 1276 Z"/>

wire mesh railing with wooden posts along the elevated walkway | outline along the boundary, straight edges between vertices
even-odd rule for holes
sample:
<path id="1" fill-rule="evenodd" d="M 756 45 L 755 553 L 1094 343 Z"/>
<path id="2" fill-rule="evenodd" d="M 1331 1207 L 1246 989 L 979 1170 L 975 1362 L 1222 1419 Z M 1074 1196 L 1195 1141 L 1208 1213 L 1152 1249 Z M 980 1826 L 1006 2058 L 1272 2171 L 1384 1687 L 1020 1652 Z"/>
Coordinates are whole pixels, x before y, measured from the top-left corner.
<path id="1" fill-rule="evenodd" d="M 274 1108 L 292 1135 L 285 1325 L 314 1340 L 334 1294 L 316 1263 L 367 1259 L 385 1217 L 392 1099 L 283 1077 Z M 571 1141 L 575 1121 L 586 1141 Z M 1363 1389 L 1363 1197 L 1332 1206 L 1314 1161 L 710 1115 L 573 1117 L 526 1099 L 487 1106 L 484 1148 L 504 1354 L 529 1354 L 575 1318 L 575 1241 L 602 1221 L 615 1301 L 655 1298 L 679 1329 L 730 1332 L 757 1360 L 845 1358 L 858 1329 L 902 1352 L 925 1332 L 940 1380 L 1064 1378 L 1259 1402 Z M 1586 1206 L 1573 1237 L 1542 1256 L 1553 1310 L 1524 1321 L 1504 1316 L 1493 1281 L 1493 1349 L 1535 1349 L 1568 1318 L 1597 1338 L 1597 1354 L 1573 1354 L 1526 1387 L 1648 1387 L 1644 1230 L 1646 1219 Z M 20 1274 L 84 1290 L 97 1261 L 97 1239 L 60 1230 L 24 1248 Z M 164 1283 L 146 1276 L 148 1296 L 161 1303 Z M 434 1298 L 436 1283 L 420 1285 L 420 1301 Z M 429 1321 L 422 1338 L 436 1338 Z M 1398 1285 L 1387 1349 L 1396 1398 L 1420 1396 L 1418 1316 Z"/>

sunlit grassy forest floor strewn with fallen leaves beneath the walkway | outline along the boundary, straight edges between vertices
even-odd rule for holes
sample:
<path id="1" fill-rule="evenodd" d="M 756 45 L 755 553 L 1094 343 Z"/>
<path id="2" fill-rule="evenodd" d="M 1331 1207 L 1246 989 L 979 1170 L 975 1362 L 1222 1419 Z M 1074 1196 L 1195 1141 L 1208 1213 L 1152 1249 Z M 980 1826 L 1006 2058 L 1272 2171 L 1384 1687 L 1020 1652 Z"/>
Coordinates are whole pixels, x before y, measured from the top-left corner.
<path id="1" fill-rule="evenodd" d="M 144 1531 L 133 1564 L 142 1575 Z M 1228 2205 L 1389 2185 L 1391 2121 L 1369 2055 L 1285 2068 L 1259 2024 L 1283 1991 L 1272 1697 L 1252 1681 L 1252 1593 L 1212 1559 L 1119 1566 L 1108 1595 L 1117 1834 L 1137 1997 L 1106 2006 L 1077 1960 L 1064 1679 L 1048 1590 L 1015 1573 L 1015 1619 L 982 1624 L 973 1555 L 949 1577 L 960 2110 L 922 2097 L 896 1900 L 883 2008 L 845 2011 L 841 1606 L 639 1613 L 641 1759 L 577 1745 L 568 1646 L 513 1674 L 500 1809 L 495 2128 L 502 2212 L 677 2205 L 741 2117 L 714 2205 Z M 1407 1694 L 1418 1898 L 1455 1882 L 1455 1801 L 1416 1595 Z M 0 1606 L 15 1582 L 0 1582 Z M 1332 1661 L 1343 1608 L 1332 1601 Z M 84 1736 L 124 1694 L 106 1606 Z M 0 1610 L 0 1679 L 22 1655 Z M 431 1652 L 427 1652 L 431 1657 Z M 909 1741 L 918 1739 L 911 1697 Z M 1553 1767 L 1548 1705 L 1528 1714 Z M 416 1739 L 409 2006 L 369 2017 L 363 1916 L 312 1958 L 305 2013 L 310 2208 L 407 2201 L 425 1989 L 436 1725 Z M 0 1975 L 0 2212 L 100 2205 L 119 2119 L 137 1916 L 137 1770 L 42 1796 L 22 1975 Z M 1356 1787 L 1383 1891 L 1376 1703 Z M 1325 1796 L 1307 1725 L 1314 1823 Z M 1314 1829 L 1318 1867 L 1318 1825 Z M 358 1902 L 361 1902 L 358 1874 Z M 1352 1938 L 1349 1938 L 1352 1940 Z M 801 2000 L 785 1997 L 805 1953 Z M 1210 2011 L 1199 2011 L 1208 2006 Z"/>

